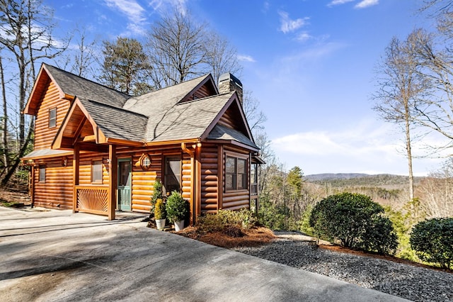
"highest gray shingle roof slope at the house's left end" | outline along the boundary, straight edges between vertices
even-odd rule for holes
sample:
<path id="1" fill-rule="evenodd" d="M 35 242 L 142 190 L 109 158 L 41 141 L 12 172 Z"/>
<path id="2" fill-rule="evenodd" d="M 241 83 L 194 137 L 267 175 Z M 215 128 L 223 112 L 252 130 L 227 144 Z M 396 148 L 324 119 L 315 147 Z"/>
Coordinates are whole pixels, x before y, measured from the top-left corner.
<path id="1" fill-rule="evenodd" d="M 128 94 L 123 94 L 115 89 L 76 76 L 70 72 L 65 72 L 52 65 L 44 64 L 44 66 L 65 94 L 80 96 L 84 99 L 95 99 L 100 103 L 115 107 L 122 107 L 127 99 L 130 99 Z"/>

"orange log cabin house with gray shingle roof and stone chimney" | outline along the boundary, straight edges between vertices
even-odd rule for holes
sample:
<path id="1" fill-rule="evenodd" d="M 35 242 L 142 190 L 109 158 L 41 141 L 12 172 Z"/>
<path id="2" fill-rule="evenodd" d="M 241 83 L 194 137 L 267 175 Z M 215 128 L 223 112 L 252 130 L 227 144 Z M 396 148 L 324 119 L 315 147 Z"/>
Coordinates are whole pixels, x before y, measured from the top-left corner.
<path id="1" fill-rule="evenodd" d="M 132 97 L 43 64 L 24 113 L 35 116 L 22 158 L 34 206 L 147 213 L 156 179 L 190 202 L 192 221 L 257 202 L 262 160 L 231 74 Z"/>

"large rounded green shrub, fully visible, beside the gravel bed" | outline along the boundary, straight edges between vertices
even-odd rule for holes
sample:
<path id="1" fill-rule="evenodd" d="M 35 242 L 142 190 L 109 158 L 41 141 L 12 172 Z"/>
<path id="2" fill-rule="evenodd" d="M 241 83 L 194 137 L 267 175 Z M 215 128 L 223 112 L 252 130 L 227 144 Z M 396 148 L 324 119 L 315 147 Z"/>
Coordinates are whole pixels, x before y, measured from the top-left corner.
<path id="1" fill-rule="evenodd" d="M 310 226 L 318 237 L 340 240 L 345 247 L 394 254 L 398 241 L 393 224 L 382 216 L 384 208 L 362 194 L 342 193 L 314 206 Z"/>

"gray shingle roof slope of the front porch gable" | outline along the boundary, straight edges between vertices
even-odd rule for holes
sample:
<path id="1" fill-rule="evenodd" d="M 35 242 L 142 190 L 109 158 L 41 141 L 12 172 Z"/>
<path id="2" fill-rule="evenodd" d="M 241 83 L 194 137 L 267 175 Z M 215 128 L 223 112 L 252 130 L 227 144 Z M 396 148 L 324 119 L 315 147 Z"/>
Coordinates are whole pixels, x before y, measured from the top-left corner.
<path id="1" fill-rule="evenodd" d="M 107 138 L 143 141 L 148 118 L 142 114 L 79 98 Z"/>

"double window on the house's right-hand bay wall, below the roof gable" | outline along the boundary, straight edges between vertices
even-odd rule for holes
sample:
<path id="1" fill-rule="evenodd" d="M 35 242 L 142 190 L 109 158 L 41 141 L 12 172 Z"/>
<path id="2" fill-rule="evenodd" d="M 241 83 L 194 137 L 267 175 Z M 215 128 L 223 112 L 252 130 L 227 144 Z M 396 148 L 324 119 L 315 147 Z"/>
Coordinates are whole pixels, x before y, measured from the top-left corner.
<path id="1" fill-rule="evenodd" d="M 247 189 L 247 160 L 226 156 L 225 160 L 225 189 Z"/>

